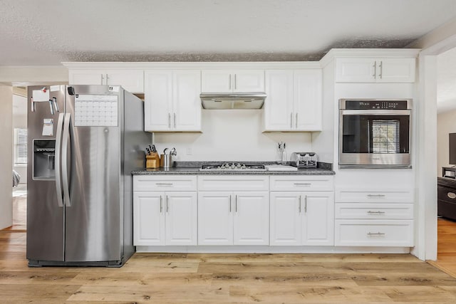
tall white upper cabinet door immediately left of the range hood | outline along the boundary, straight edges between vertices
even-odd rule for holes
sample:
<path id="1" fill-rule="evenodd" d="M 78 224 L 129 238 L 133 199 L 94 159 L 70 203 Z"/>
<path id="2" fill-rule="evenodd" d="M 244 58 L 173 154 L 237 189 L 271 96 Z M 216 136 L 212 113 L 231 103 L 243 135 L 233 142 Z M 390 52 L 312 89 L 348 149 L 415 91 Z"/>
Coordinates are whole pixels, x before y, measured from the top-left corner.
<path id="1" fill-rule="evenodd" d="M 201 72 L 175 70 L 173 72 L 172 129 L 201 131 Z"/>

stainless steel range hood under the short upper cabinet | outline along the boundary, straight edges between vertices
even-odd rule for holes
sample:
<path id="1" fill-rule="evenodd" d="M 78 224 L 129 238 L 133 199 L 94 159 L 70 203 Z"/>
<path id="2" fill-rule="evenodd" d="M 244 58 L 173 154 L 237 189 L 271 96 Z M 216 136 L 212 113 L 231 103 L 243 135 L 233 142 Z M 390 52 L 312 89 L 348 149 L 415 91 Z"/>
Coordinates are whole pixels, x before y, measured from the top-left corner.
<path id="1" fill-rule="evenodd" d="M 266 93 L 201 93 L 199 97 L 207 110 L 261 109 Z"/>

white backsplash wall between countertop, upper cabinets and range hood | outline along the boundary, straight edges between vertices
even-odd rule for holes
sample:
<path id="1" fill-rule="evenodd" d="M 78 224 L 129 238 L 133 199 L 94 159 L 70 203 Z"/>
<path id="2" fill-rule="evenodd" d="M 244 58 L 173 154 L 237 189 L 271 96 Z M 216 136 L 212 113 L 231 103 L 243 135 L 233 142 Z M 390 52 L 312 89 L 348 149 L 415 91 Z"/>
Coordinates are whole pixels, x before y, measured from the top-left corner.
<path id="1" fill-rule="evenodd" d="M 155 145 L 160 154 L 175 147 L 175 160 L 187 161 L 278 160 L 281 141 L 286 142 L 288 158 L 291 152 L 312 151 L 310 132 L 261 132 L 262 111 L 202 110 L 202 133 L 155 133 Z"/>

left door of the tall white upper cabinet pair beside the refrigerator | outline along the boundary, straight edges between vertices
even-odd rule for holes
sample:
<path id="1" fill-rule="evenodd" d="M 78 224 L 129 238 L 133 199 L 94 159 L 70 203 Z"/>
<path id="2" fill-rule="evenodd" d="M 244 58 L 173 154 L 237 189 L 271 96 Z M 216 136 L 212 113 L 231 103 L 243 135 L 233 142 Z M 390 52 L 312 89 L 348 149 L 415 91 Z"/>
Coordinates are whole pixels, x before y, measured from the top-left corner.
<path id="1" fill-rule="evenodd" d="M 172 71 L 145 71 L 144 130 L 169 131 L 172 116 Z"/>

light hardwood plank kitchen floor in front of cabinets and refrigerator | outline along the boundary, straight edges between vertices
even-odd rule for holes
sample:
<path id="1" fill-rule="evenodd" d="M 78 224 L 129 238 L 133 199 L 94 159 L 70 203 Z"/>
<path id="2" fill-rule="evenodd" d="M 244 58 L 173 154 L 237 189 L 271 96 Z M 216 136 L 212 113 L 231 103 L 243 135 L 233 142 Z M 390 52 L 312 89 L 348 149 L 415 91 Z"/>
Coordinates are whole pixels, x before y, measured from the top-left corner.
<path id="1" fill-rule="evenodd" d="M 28 268 L 16 228 L 0 231 L 0 303 L 456 303 L 456 279 L 408 254 L 136 253 L 122 268 Z"/>

